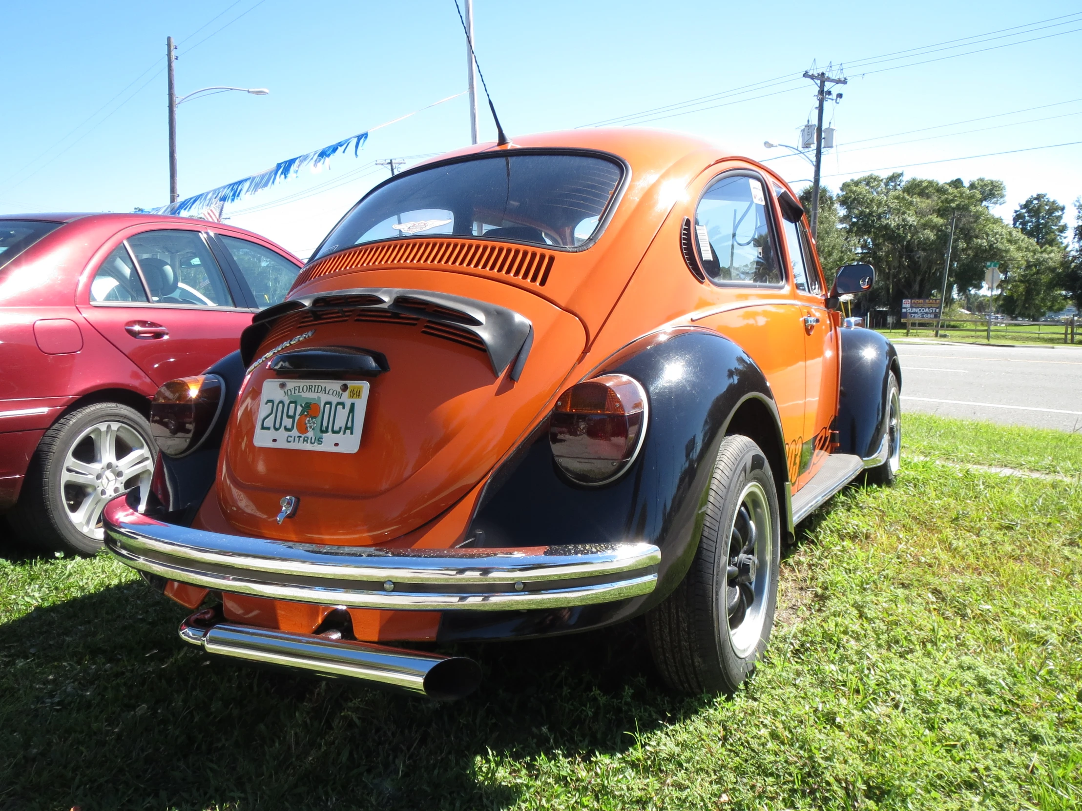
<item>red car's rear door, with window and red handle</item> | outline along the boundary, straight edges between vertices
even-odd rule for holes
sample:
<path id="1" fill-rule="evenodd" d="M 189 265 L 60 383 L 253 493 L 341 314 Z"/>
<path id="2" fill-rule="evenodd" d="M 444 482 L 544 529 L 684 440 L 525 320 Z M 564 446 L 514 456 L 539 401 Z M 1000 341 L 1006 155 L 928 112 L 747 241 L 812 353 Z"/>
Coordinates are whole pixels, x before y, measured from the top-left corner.
<path id="1" fill-rule="evenodd" d="M 128 235 L 91 275 L 80 311 L 159 385 L 237 349 L 252 320 L 199 230 Z"/>

